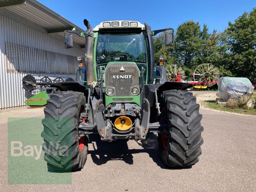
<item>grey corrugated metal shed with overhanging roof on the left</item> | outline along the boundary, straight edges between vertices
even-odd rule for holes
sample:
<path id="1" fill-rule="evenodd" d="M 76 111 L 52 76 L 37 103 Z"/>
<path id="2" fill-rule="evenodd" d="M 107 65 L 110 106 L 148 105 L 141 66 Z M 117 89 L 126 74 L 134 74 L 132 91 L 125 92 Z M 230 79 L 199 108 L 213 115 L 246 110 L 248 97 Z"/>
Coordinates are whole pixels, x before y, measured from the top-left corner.
<path id="1" fill-rule="evenodd" d="M 36 0 L 0 0 L 0 109 L 25 105 L 27 74 L 75 78 L 84 38 L 65 49 L 64 30 L 79 30 Z"/>

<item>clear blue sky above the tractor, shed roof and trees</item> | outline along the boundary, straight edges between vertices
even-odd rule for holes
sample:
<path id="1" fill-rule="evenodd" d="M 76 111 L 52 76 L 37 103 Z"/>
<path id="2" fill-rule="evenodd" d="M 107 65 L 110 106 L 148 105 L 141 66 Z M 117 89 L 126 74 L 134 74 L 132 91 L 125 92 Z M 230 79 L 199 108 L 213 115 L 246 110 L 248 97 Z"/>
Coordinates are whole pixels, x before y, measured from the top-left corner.
<path id="1" fill-rule="evenodd" d="M 172 27 L 174 30 L 187 21 L 199 21 L 201 27 L 207 24 L 209 31 L 223 31 L 228 21 L 250 12 L 256 7 L 256 0 L 38 0 L 40 3 L 85 29 L 87 19 L 94 28 L 102 21 L 135 20 L 148 23 L 152 30 Z"/>

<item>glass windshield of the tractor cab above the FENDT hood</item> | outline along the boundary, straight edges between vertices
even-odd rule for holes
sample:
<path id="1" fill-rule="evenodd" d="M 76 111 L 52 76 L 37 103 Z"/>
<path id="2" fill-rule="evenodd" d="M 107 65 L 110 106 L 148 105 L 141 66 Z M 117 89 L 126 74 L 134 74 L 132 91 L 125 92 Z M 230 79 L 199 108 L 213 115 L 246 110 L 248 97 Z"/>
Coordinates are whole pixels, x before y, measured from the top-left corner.
<path id="1" fill-rule="evenodd" d="M 109 61 L 146 63 L 145 41 L 140 33 L 99 33 L 96 53 L 97 64 Z"/>

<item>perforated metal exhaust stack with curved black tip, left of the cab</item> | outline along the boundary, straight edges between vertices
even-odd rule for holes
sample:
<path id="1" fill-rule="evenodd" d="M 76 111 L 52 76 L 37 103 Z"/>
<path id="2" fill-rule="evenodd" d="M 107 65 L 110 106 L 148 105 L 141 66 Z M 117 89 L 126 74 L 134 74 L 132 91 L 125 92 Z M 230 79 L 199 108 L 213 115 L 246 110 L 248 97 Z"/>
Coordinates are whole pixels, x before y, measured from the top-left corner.
<path id="1" fill-rule="evenodd" d="M 93 65 L 93 32 L 92 26 L 88 20 L 84 19 L 84 25 L 86 26 L 86 35 L 85 35 L 85 67 L 86 67 L 86 76 L 87 84 L 92 85 L 92 82 L 95 81 L 94 75 L 94 65 Z"/>

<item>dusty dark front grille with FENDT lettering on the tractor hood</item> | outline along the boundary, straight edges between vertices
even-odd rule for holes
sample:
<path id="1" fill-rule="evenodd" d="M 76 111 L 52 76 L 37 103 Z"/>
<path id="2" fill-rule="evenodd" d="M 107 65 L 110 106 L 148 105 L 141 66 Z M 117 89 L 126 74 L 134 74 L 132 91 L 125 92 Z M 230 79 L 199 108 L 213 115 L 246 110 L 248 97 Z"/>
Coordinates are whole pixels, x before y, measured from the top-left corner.
<path id="1" fill-rule="evenodd" d="M 121 68 L 125 71 L 120 71 Z M 131 78 L 122 79 L 113 76 L 131 76 Z M 116 88 L 116 96 L 131 95 L 131 87 L 139 86 L 140 71 L 135 64 L 118 63 L 110 64 L 105 70 L 105 86 L 112 86 Z"/>

